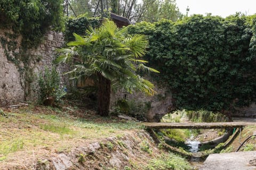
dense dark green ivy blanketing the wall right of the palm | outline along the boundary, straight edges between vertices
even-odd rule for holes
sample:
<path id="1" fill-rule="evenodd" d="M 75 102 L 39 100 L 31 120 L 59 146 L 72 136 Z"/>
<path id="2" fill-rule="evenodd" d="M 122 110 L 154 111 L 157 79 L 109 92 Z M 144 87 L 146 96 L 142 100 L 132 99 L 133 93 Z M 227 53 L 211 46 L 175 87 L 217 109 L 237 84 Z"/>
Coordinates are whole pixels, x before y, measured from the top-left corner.
<path id="1" fill-rule="evenodd" d="M 193 15 L 185 20 L 129 26 L 148 35 L 145 56 L 154 75 L 172 92 L 177 108 L 232 111 L 256 92 L 256 16 Z"/>

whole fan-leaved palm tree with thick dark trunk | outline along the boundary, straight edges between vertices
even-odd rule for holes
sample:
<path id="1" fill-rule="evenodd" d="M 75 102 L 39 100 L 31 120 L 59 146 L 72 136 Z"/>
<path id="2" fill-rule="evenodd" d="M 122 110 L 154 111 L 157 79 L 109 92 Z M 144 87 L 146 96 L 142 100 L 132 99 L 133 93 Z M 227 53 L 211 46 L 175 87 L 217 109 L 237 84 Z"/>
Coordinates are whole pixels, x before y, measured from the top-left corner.
<path id="1" fill-rule="evenodd" d="M 98 83 L 98 112 L 109 115 L 111 87 L 133 93 L 143 91 L 154 95 L 154 85 L 140 77 L 137 70 L 158 72 L 147 67 L 147 61 L 138 60 L 146 53 L 147 37 L 128 35 L 113 21 L 105 21 L 100 28 L 86 30 L 86 36 L 74 33 L 75 41 L 62 48 L 57 62 L 76 61 L 70 71 L 75 78 L 96 78 Z M 73 58 L 73 60 L 71 60 Z"/>

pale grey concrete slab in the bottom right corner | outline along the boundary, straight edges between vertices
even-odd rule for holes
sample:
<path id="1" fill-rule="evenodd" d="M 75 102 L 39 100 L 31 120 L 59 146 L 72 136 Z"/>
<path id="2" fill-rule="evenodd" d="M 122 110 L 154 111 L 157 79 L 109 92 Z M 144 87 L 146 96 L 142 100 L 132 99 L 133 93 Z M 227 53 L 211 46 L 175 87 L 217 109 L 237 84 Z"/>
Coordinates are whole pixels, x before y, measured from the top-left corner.
<path id="1" fill-rule="evenodd" d="M 199 170 L 255 170 L 250 160 L 256 159 L 256 151 L 211 154 Z"/>

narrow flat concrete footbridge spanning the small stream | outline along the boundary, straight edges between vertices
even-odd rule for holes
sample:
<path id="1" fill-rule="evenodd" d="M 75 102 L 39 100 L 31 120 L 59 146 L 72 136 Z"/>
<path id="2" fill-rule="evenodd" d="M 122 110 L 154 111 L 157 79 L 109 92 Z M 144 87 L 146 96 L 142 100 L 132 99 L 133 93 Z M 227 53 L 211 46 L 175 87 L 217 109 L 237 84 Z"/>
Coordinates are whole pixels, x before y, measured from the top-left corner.
<path id="1" fill-rule="evenodd" d="M 256 122 L 142 123 L 149 129 L 227 129 L 255 126 Z"/>

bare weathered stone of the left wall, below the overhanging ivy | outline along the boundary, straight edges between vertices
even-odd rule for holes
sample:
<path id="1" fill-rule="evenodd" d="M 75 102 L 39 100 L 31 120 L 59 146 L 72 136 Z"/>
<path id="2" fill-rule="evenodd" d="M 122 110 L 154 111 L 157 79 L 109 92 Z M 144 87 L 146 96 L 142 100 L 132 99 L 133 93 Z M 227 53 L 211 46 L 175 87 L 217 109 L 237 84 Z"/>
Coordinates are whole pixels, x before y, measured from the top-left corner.
<path id="1" fill-rule="evenodd" d="M 64 43 L 63 34 L 47 32 L 41 45 L 26 50 L 23 56 L 29 59 L 27 61 L 19 57 L 23 53 L 21 36 L 15 35 L 12 30 L 2 29 L 0 38 L 0 106 L 28 100 L 35 101 L 38 97 L 38 73 L 45 66 L 52 67 L 52 61 L 56 54 L 55 49 L 60 48 Z M 5 43 L 3 43 L 4 41 Z M 15 49 L 11 44 L 14 44 Z"/>

